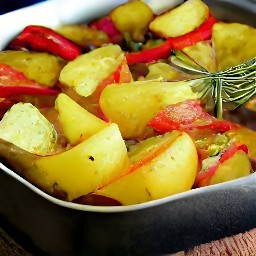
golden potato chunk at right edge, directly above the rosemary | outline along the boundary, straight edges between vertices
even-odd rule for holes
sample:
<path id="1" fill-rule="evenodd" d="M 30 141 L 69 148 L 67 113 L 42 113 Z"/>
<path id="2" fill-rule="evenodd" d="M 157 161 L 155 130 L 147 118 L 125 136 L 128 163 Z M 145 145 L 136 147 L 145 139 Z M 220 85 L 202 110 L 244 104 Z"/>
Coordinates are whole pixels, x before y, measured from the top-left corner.
<path id="1" fill-rule="evenodd" d="M 212 30 L 217 71 L 242 64 L 256 56 L 256 29 L 239 23 L 216 23 Z"/>

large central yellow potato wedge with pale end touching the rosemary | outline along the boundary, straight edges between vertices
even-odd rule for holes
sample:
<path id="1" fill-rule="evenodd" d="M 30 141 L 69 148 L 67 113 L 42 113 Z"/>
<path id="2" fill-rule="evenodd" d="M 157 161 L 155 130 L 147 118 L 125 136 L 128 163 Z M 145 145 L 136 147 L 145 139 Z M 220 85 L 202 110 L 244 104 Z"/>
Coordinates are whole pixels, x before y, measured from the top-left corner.
<path id="1" fill-rule="evenodd" d="M 152 131 L 148 122 L 160 109 L 196 97 L 186 82 L 140 81 L 109 85 L 101 94 L 100 107 L 125 139 L 145 138 Z"/>

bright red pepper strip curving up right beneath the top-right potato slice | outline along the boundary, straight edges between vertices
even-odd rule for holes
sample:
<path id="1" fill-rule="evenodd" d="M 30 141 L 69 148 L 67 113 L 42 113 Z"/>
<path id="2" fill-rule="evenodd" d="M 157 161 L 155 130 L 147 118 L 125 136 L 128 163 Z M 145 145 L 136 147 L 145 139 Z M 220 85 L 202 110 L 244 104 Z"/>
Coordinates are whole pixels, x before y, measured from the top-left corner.
<path id="1" fill-rule="evenodd" d="M 182 50 L 184 47 L 191 46 L 200 41 L 210 40 L 212 37 L 212 27 L 216 22 L 217 20 L 209 14 L 208 19 L 194 31 L 183 36 L 171 38 L 173 49 Z"/>

